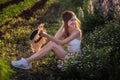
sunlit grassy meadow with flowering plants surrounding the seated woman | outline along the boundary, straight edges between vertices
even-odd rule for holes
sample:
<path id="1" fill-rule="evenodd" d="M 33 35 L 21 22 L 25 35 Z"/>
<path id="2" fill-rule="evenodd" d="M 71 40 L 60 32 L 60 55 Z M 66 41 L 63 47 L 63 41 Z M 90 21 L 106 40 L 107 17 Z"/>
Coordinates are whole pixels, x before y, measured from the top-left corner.
<path id="1" fill-rule="evenodd" d="M 106 0 L 0 0 L 0 80 L 119 80 L 120 6 L 118 0 L 108 3 L 112 5 Z M 11 60 L 33 54 L 29 37 L 40 23 L 54 36 L 64 10 L 73 10 L 81 20 L 81 54 L 70 57 L 62 69 L 53 52 L 34 61 L 30 70 L 12 67 Z"/>

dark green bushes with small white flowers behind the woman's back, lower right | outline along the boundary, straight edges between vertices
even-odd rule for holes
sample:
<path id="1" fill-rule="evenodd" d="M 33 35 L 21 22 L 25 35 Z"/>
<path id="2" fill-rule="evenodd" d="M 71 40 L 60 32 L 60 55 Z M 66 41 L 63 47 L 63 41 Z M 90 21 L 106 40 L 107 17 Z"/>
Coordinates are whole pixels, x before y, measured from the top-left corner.
<path id="1" fill-rule="evenodd" d="M 120 27 L 110 22 L 97 28 L 82 41 L 82 53 L 70 57 L 63 70 L 67 79 L 118 80 L 120 73 Z M 71 59 L 72 58 L 72 59 Z"/>

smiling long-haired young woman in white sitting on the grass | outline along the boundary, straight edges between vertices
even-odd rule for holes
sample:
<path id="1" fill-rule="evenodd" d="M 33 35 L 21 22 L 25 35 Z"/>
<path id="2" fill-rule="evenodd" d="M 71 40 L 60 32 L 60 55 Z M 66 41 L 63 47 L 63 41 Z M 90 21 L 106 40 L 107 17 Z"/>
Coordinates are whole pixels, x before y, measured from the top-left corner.
<path id="1" fill-rule="evenodd" d="M 18 61 L 12 61 L 14 67 L 29 69 L 31 62 L 45 56 L 50 51 L 53 51 L 56 56 L 64 60 L 65 56 L 71 52 L 79 53 L 80 44 L 82 40 L 81 24 L 73 11 L 64 11 L 62 14 L 63 23 L 55 37 L 50 36 L 44 31 L 38 31 L 39 36 L 45 37 L 50 40 L 38 52 L 28 58 L 21 58 Z M 67 45 L 68 50 L 64 50 L 62 45 Z"/>

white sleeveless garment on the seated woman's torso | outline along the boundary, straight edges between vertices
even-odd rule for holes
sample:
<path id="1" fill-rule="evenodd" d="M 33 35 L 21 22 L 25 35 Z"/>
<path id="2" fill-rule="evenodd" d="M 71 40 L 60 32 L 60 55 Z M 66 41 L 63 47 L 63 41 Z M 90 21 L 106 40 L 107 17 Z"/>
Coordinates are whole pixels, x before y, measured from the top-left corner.
<path id="1" fill-rule="evenodd" d="M 81 52 L 80 45 L 81 45 L 81 40 L 73 39 L 67 45 L 68 52 Z"/>

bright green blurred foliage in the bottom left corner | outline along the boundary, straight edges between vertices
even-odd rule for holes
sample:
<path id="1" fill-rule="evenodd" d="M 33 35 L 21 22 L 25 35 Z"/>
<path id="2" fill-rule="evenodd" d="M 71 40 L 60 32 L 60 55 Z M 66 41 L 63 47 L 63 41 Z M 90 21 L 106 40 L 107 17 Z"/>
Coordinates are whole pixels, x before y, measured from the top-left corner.
<path id="1" fill-rule="evenodd" d="M 11 80 L 10 75 L 13 73 L 14 71 L 10 68 L 8 60 L 0 57 L 0 80 Z"/>

